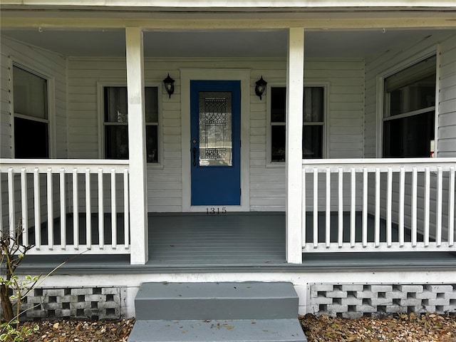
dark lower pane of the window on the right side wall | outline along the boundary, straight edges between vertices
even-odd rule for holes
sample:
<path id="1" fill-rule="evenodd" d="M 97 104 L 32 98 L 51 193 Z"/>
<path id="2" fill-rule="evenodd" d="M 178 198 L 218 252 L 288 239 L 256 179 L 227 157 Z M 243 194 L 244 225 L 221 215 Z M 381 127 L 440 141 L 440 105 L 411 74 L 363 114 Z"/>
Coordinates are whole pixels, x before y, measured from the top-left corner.
<path id="1" fill-rule="evenodd" d="M 430 157 L 434 111 L 383 123 L 383 157 Z"/>

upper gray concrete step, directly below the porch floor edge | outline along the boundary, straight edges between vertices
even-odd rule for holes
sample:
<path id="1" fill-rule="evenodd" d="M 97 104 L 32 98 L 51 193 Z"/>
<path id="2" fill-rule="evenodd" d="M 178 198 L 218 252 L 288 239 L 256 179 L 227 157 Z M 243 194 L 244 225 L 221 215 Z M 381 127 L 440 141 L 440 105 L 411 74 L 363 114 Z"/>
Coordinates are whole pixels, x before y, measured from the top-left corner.
<path id="1" fill-rule="evenodd" d="M 144 283 L 135 298 L 137 320 L 297 318 L 291 283 Z"/>

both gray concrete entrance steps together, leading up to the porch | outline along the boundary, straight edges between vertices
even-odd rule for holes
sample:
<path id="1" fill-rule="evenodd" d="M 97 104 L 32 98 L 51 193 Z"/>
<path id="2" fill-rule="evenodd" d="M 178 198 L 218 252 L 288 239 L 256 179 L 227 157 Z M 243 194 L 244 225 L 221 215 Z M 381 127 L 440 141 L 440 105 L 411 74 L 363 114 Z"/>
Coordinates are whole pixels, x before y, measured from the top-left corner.
<path id="1" fill-rule="evenodd" d="M 144 283 L 128 342 L 306 342 L 291 283 Z"/>

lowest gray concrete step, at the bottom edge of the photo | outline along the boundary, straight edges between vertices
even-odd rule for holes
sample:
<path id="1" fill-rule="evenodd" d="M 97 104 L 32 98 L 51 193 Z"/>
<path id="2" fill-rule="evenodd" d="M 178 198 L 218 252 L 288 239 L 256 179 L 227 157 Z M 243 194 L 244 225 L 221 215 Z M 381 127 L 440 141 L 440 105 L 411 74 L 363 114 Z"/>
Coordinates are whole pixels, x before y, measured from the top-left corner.
<path id="1" fill-rule="evenodd" d="M 297 318 L 136 321 L 128 342 L 306 342 Z"/>

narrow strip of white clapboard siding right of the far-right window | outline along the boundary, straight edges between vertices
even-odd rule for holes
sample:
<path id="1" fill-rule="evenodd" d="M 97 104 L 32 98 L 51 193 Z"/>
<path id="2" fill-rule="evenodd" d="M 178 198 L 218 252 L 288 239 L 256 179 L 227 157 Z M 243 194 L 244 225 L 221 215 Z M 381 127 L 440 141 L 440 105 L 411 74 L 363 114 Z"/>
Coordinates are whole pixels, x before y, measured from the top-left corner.
<path id="1" fill-rule="evenodd" d="M 456 36 L 439 45 L 438 157 L 456 155 Z"/>

